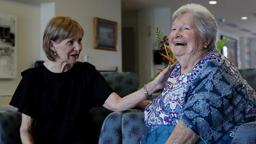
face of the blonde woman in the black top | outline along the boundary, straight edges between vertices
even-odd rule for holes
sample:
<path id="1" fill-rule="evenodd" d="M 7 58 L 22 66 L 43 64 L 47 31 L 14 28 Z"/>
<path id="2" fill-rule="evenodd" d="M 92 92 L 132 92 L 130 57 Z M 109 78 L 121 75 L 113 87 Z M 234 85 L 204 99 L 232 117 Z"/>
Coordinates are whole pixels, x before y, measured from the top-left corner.
<path id="1" fill-rule="evenodd" d="M 58 43 L 51 41 L 51 49 L 56 52 L 59 63 L 75 64 L 82 50 L 82 36 L 75 31 L 69 38 Z"/>

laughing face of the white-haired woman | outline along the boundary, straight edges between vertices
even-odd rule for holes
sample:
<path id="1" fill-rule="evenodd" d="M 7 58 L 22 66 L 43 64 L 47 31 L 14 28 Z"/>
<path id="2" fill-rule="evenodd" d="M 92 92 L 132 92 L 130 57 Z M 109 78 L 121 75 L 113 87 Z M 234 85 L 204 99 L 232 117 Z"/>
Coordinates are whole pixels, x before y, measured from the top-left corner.
<path id="1" fill-rule="evenodd" d="M 182 57 L 193 57 L 206 50 L 195 20 L 190 14 L 180 15 L 174 20 L 169 42 L 178 60 Z"/>

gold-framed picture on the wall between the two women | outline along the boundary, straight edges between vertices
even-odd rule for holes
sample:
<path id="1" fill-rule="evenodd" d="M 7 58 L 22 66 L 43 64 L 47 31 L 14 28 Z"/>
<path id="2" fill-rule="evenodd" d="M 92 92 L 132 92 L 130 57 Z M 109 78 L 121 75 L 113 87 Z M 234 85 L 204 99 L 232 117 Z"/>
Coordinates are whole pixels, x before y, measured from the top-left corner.
<path id="1" fill-rule="evenodd" d="M 94 48 L 117 51 L 117 22 L 94 18 Z"/>

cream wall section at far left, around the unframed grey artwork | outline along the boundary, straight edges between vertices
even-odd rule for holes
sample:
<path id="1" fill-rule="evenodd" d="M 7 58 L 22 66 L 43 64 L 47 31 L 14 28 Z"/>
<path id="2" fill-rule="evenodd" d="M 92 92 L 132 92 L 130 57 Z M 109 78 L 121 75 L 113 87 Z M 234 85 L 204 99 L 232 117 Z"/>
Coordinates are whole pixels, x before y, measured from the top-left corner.
<path id="1" fill-rule="evenodd" d="M 12 95 L 21 79 L 20 72 L 40 57 L 40 7 L 13 0 L 0 0 L 0 13 L 17 16 L 17 78 L 0 79 L 0 96 Z M 0 105 L 11 97 L 0 97 Z"/>

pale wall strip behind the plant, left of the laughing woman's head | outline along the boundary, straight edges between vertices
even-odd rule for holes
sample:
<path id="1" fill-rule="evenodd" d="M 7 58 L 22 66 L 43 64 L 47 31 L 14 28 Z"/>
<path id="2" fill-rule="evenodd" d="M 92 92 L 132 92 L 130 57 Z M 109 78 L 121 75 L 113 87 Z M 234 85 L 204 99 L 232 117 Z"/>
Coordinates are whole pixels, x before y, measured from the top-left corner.
<path id="1" fill-rule="evenodd" d="M 138 33 L 139 33 L 139 87 L 148 83 L 157 73 L 153 64 L 153 44 L 156 39 L 156 28 L 160 28 L 165 35 L 171 32 L 171 9 L 142 9 L 138 11 Z"/>

